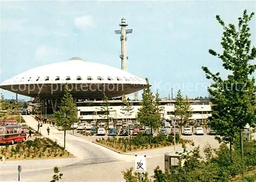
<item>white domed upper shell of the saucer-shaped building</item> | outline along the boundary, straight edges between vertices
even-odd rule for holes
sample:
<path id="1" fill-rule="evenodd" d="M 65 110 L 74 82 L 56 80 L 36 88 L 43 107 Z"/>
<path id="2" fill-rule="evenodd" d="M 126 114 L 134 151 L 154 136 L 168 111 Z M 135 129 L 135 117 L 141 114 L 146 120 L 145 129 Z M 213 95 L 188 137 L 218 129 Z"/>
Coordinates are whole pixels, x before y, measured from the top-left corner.
<path id="1" fill-rule="evenodd" d="M 67 80 L 99 80 L 99 81 L 135 81 L 145 83 L 144 79 L 141 79 L 133 74 L 125 72 L 116 67 L 109 65 L 87 62 L 80 58 L 73 57 L 66 62 L 58 62 L 47 64 L 34 69 L 28 70 L 21 74 L 18 74 L 6 81 L 1 85 L 20 84 L 26 82 L 29 83 L 41 83 L 45 81 L 65 81 Z"/>

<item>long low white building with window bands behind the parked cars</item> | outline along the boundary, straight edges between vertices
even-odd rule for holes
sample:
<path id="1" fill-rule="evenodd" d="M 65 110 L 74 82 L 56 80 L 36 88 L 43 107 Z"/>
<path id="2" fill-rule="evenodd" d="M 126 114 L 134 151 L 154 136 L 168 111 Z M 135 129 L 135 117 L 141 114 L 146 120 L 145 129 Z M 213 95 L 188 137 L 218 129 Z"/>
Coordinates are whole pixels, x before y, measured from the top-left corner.
<path id="1" fill-rule="evenodd" d="M 104 101 L 83 101 L 76 102 L 78 108 L 78 116 L 81 117 L 81 121 L 105 121 L 104 109 L 102 109 L 102 104 Z M 122 101 L 121 100 L 110 100 L 110 113 L 109 117 L 112 120 L 137 120 L 137 113 L 141 107 L 142 101 L 130 101 L 131 106 L 133 107 L 133 113 L 130 116 L 126 116 L 122 111 Z M 211 108 L 209 102 L 203 102 L 200 100 L 189 100 L 191 104 L 191 110 L 193 115 L 190 120 L 204 120 L 207 119 L 211 114 Z M 162 118 L 169 120 L 174 117 L 176 100 L 164 100 L 160 101 L 160 105 L 163 108 Z"/>

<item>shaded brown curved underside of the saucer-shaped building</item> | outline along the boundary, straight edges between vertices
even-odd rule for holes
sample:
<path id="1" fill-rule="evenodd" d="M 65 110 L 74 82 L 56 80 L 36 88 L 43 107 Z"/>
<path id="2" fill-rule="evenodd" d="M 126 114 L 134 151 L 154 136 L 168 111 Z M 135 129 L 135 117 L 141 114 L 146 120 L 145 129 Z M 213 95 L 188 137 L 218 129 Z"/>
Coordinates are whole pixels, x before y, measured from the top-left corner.
<path id="1" fill-rule="evenodd" d="M 39 95 L 42 99 L 61 98 L 64 95 L 64 86 L 62 84 L 37 84 L 35 87 L 26 85 L 3 85 L 2 89 L 10 92 L 28 96 L 37 97 Z M 69 84 L 71 94 L 74 98 L 103 98 L 103 93 L 109 98 L 120 97 L 123 94 L 132 94 L 143 89 L 145 85 L 142 84 L 95 84 L 91 83 L 87 87 Z"/>

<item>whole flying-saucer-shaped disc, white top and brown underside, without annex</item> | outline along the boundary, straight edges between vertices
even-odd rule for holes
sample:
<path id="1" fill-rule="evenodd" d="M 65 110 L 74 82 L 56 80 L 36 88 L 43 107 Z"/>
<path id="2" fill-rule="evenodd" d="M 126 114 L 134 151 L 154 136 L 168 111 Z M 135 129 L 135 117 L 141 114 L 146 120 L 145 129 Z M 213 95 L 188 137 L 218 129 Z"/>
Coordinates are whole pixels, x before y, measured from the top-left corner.
<path id="1" fill-rule="evenodd" d="M 146 81 L 112 66 L 71 58 L 18 74 L 0 88 L 28 97 L 57 99 L 68 85 L 74 98 L 109 98 L 131 94 L 144 88 Z"/>

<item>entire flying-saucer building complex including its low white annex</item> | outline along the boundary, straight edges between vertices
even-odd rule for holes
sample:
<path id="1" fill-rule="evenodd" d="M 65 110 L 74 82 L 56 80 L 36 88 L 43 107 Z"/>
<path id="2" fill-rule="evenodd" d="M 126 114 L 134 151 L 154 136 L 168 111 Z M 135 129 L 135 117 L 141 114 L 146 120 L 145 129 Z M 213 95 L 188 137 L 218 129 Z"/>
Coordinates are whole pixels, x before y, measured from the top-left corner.
<path id="1" fill-rule="evenodd" d="M 68 85 L 79 109 L 82 120 L 104 120 L 100 107 L 103 93 L 110 99 L 113 108 L 110 115 L 115 120 L 125 119 L 121 113 L 121 100 L 112 98 L 128 95 L 143 89 L 146 81 L 116 67 L 83 61 L 74 57 L 65 62 L 52 63 L 28 70 L 0 84 L 0 88 L 10 92 L 44 100 L 42 113 L 53 113 L 64 95 Z M 198 105 L 199 101 L 191 100 L 193 117 L 191 120 L 203 120 L 209 116 L 210 105 Z M 131 101 L 134 107 L 130 119 L 136 120 L 141 101 Z M 164 107 L 162 116 L 165 119 L 173 116 L 175 100 L 161 101 Z"/>

